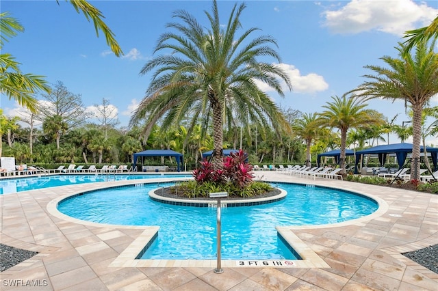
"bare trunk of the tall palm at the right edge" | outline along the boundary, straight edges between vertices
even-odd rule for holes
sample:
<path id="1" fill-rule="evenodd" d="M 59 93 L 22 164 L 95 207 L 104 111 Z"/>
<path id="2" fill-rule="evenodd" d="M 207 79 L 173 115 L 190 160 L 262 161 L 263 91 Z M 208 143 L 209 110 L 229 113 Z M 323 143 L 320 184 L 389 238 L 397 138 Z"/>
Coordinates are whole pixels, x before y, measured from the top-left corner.
<path id="1" fill-rule="evenodd" d="M 420 180 L 420 146 L 422 133 L 422 105 L 412 106 L 412 159 L 411 159 L 411 180 Z"/>

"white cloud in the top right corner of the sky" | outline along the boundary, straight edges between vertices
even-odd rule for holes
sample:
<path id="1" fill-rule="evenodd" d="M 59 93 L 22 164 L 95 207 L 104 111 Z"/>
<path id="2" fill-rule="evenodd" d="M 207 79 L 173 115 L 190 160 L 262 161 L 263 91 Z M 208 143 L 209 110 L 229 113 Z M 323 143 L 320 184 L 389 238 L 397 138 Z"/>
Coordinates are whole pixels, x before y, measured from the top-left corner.
<path id="1" fill-rule="evenodd" d="M 410 29 L 429 25 L 438 10 L 411 0 L 352 0 L 338 10 L 323 12 L 324 26 L 333 33 L 383 31 L 402 36 Z"/>

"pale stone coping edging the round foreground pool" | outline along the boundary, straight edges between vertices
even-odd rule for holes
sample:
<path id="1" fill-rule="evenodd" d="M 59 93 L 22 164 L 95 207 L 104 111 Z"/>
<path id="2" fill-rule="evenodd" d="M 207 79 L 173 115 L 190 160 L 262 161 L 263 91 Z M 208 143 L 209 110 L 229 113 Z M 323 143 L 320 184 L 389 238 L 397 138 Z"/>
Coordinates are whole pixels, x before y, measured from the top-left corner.
<path id="1" fill-rule="evenodd" d="M 187 178 L 179 178 L 179 180 L 187 180 Z M 142 179 L 142 180 L 124 180 L 124 181 L 112 181 L 111 185 L 101 186 L 94 185 L 91 189 L 87 191 L 75 191 L 73 193 L 69 193 L 67 195 L 62 195 L 51 200 L 47 204 L 47 211 L 55 217 L 63 219 L 65 221 L 69 221 L 72 223 L 79 223 L 83 225 L 89 225 L 94 227 L 106 227 L 106 228 L 114 228 L 114 229 L 144 229 L 144 232 L 140 234 L 133 242 L 116 257 L 116 259 L 110 264 L 111 267 L 214 267 L 217 266 L 217 260 L 144 260 L 137 259 L 138 255 L 144 251 L 144 248 L 149 245 L 153 238 L 157 235 L 159 230 L 158 226 L 143 226 L 143 225 L 113 225 L 113 224 L 105 224 L 105 223 L 94 223 L 91 221 L 83 221 L 80 219 L 75 219 L 66 214 L 63 214 L 59 210 L 57 210 L 57 205 L 62 202 L 64 199 L 68 199 L 69 197 L 74 197 L 75 195 L 79 195 L 81 193 L 96 191 L 100 189 L 107 188 L 117 188 L 120 186 L 131 186 L 135 184 L 154 184 L 157 182 L 171 182 L 175 181 L 175 178 L 153 178 L 153 179 Z M 269 181 L 266 181 L 269 182 Z M 102 182 L 98 182 L 96 184 L 101 184 Z M 286 182 L 289 184 L 304 184 L 304 185 L 313 185 L 318 187 L 325 187 L 320 185 L 315 185 L 308 182 Z M 302 230 L 302 229 L 318 229 L 318 228 L 329 228 L 329 227 L 342 227 L 346 225 L 353 225 L 357 223 L 363 223 L 365 221 L 369 221 L 376 217 L 380 217 L 382 214 L 386 213 L 389 206 L 388 204 L 381 199 L 380 197 L 376 197 L 374 195 L 370 195 L 369 193 L 361 193 L 361 191 L 351 191 L 348 189 L 342 189 L 342 187 L 333 188 L 326 187 L 330 189 L 341 189 L 343 191 L 347 191 L 348 193 L 355 193 L 358 195 L 363 195 L 365 197 L 369 197 L 374 199 L 374 201 L 378 204 L 378 208 L 372 214 L 369 214 L 365 217 L 361 217 L 359 219 L 351 219 L 349 221 L 344 221 L 341 223 L 331 223 L 324 225 L 292 225 L 292 226 L 276 226 L 277 232 L 283 237 L 283 239 L 288 243 L 297 253 L 300 255 L 302 260 L 221 260 L 223 267 L 232 267 L 232 268 L 329 268 L 329 264 L 326 264 L 322 258 L 318 254 L 316 254 L 310 247 L 307 246 L 296 234 L 294 234 L 294 230 Z M 155 191 L 155 190 L 153 190 Z M 149 195 L 155 195 L 153 191 L 149 192 Z M 281 195 L 285 195 L 285 191 L 282 192 Z M 160 199 L 163 199 L 162 196 L 159 196 Z M 266 201 L 274 197 L 263 197 L 255 200 Z M 166 200 L 174 200 L 175 202 L 186 202 L 185 199 L 175 199 L 166 197 Z M 203 204 L 212 204 L 211 201 L 206 200 L 197 200 L 197 202 L 202 202 Z M 225 201 L 224 201 L 225 202 Z M 237 201 L 227 201 L 231 203 L 238 203 Z M 217 203 L 213 203 L 217 204 Z M 222 204 L 222 201 L 221 201 Z M 242 262 L 244 262 L 242 264 Z M 253 262 L 253 263 L 250 263 Z M 268 264 L 263 264 L 263 262 L 268 262 Z M 279 262 L 279 264 L 277 264 Z"/>

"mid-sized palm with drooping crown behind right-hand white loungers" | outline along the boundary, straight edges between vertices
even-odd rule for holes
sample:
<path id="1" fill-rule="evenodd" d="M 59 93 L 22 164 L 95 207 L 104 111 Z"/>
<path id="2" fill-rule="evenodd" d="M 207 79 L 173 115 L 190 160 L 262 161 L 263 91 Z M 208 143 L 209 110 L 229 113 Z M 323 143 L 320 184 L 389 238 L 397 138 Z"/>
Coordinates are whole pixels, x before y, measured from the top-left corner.
<path id="1" fill-rule="evenodd" d="M 330 128 L 339 128 L 341 132 L 341 154 L 339 157 L 339 166 L 342 168 L 341 174 L 345 174 L 346 161 L 346 141 L 349 128 L 368 128 L 374 124 L 383 122 L 381 113 L 372 109 L 365 109 L 367 104 L 361 102 L 355 96 L 347 98 L 344 94 L 341 98 L 332 97 L 333 102 L 327 102 L 323 105 L 325 111 L 320 113 L 318 122 L 322 126 Z"/>

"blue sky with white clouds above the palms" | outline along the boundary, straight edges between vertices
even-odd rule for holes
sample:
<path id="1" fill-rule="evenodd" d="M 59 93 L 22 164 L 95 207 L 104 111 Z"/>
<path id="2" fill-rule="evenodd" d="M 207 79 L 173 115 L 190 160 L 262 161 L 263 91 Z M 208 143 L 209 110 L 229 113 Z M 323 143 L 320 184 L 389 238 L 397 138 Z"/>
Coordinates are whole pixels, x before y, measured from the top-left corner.
<path id="1" fill-rule="evenodd" d="M 211 12 L 211 1 L 89 2 L 105 16 L 105 23 L 125 53 L 123 57 L 116 57 L 103 33 L 99 32 L 98 38 L 94 25 L 62 0 L 59 4 L 54 0 L 1 0 L 0 11 L 10 12 L 25 28 L 5 43 L 2 53 L 11 53 L 21 63 L 23 73 L 43 75 L 51 84 L 61 81 L 69 92 L 81 94 L 90 111 L 104 98 L 109 100 L 116 109 L 118 126 L 127 126 L 151 81 L 151 74 L 140 75 L 140 70 L 157 55 L 155 45 L 162 33 L 170 31 L 166 24 L 175 20 L 172 13 L 185 10 L 207 27 L 205 12 Z M 242 2 L 218 1 L 224 25 L 235 3 Z M 244 3 L 241 32 L 257 27 L 259 30 L 250 38 L 263 35 L 276 39 L 279 66 L 287 72 L 293 87 L 292 91 L 284 87 L 283 98 L 267 87 L 261 88 L 282 109 L 303 113 L 322 112 L 333 96 L 355 89 L 367 80 L 363 75 L 373 73 L 364 66 L 385 66 L 380 58 L 398 57 L 396 46 L 403 41 L 404 31 L 427 26 L 438 15 L 438 1 Z M 42 99 L 39 95 L 36 98 Z M 430 105 L 437 106 L 438 98 L 433 98 Z M 4 95 L 0 107 L 9 116 L 23 111 Z M 398 115 L 399 125 L 410 120 L 401 101 L 372 100 L 368 108 L 383 113 L 388 120 Z M 390 142 L 400 141 L 393 137 Z"/>

